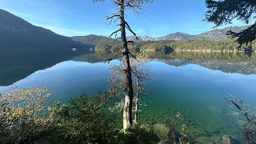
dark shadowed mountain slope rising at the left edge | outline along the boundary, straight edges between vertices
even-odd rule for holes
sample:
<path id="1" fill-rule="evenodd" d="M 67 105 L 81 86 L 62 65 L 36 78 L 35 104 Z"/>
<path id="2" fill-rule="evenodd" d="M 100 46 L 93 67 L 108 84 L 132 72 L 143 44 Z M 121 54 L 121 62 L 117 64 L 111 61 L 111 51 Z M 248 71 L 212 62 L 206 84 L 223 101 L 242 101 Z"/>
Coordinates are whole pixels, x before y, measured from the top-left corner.
<path id="1" fill-rule="evenodd" d="M 64 50 L 72 48 L 71 38 L 34 26 L 0 9 L 0 50 Z"/>

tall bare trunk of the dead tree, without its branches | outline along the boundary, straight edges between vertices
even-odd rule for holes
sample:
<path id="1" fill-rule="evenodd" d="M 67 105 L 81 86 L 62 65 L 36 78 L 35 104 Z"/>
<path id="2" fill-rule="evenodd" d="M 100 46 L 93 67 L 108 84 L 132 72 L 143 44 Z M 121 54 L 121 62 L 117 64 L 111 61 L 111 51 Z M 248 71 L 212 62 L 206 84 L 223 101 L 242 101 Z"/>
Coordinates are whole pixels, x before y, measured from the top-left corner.
<path id="1" fill-rule="evenodd" d="M 132 125 L 132 99 L 133 99 L 133 82 L 132 82 L 132 75 L 131 75 L 131 69 L 130 69 L 130 59 L 129 59 L 129 50 L 127 46 L 126 41 L 126 21 L 124 18 L 124 0 L 120 1 L 119 4 L 119 10 L 120 10 L 120 31 L 121 31 L 121 38 L 122 38 L 122 58 L 125 66 L 125 73 L 126 73 L 126 85 L 125 85 L 125 102 L 123 107 L 123 130 L 126 131 L 126 129 Z"/>

